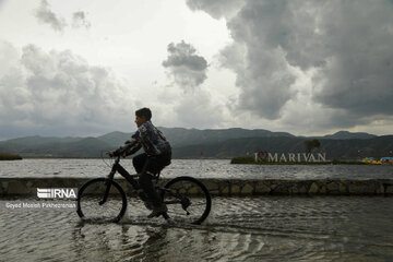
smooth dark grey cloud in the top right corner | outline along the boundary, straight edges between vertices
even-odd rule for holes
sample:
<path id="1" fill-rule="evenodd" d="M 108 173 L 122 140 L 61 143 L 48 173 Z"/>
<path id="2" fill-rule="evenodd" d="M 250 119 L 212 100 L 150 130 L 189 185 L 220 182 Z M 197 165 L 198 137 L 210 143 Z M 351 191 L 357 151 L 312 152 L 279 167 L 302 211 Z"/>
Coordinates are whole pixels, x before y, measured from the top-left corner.
<path id="1" fill-rule="evenodd" d="M 329 2 L 330 3 L 330 2 Z M 393 110 L 393 5 L 386 1 L 326 4 L 321 12 L 325 64 L 314 99 L 358 116 Z"/>

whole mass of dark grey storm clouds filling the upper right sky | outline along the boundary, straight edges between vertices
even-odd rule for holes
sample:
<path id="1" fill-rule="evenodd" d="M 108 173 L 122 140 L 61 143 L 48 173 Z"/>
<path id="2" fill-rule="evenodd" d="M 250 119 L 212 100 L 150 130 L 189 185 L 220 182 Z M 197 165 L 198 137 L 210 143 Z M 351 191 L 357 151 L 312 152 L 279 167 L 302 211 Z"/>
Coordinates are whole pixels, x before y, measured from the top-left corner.
<path id="1" fill-rule="evenodd" d="M 213 17 L 225 2 L 189 0 Z M 233 7 L 228 7 L 233 9 Z M 279 118 L 296 98 L 291 67 L 312 70 L 312 99 L 342 116 L 369 121 L 393 109 L 393 4 L 386 0 L 249 0 L 226 16 L 234 43 L 223 64 L 237 74 L 238 107 Z M 336 121 L 336 122 L 334 122 Z M 353 123 L 355 126 L 356 122 Z"/>

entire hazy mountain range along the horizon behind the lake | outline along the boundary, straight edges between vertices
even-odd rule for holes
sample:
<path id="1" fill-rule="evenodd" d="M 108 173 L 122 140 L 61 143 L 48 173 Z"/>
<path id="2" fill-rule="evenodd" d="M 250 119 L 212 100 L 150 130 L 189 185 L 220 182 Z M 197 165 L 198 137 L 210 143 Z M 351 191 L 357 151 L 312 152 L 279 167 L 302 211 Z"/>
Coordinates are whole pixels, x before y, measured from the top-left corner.
<path id="1" fill-rule="evenodd" d="M 320 148 L 333 158 L 361 158 L 392 156 L 393 135 L 377 136 L 369 133 L 340 131 L 324 136 L 295 136 L 287 132 L 263 129 L 183 129 L 159 128 L 172 145 L 174 158 L 231 158 L 252 155 L 258 151 L 272 153 L 302 153 L 305 141 L 318 139 Z M 99 157 L 129 140 L 131 133 L 110 132 L 96 138 L 27 136 L 0 141 L 0 152 L 24 157 Z"/>

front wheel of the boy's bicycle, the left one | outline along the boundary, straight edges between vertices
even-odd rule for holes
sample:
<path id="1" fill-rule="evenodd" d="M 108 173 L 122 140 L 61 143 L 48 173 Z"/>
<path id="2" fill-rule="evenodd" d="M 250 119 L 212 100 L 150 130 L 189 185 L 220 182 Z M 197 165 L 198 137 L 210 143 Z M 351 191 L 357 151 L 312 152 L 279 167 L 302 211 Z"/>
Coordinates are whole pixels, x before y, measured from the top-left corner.
<path id="1" fill-rule="evenodd" d="M 126 193 L 114 180 L 96 178 L 78 192 L 76 213 L 85 221 L 118 222 L 127 209 Z"/>

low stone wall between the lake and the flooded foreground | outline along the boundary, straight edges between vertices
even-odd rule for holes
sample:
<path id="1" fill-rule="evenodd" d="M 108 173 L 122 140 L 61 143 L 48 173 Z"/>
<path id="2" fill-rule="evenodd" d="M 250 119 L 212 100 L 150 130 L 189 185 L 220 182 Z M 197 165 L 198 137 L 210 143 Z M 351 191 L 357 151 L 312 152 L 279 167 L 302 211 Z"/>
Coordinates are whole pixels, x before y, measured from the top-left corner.
<path id="1" fill-rule="evenodd" d="M 35 195 L 37 188 L 80 188 L 90 178 L 0 178 L 0 195 Z M 127 192 L 130 184 L 115 179 Z M 162 179 L 165 184 L 169 179 Z M 201 179 L 213 195 L 392 194 L 393 179 Z"/>

